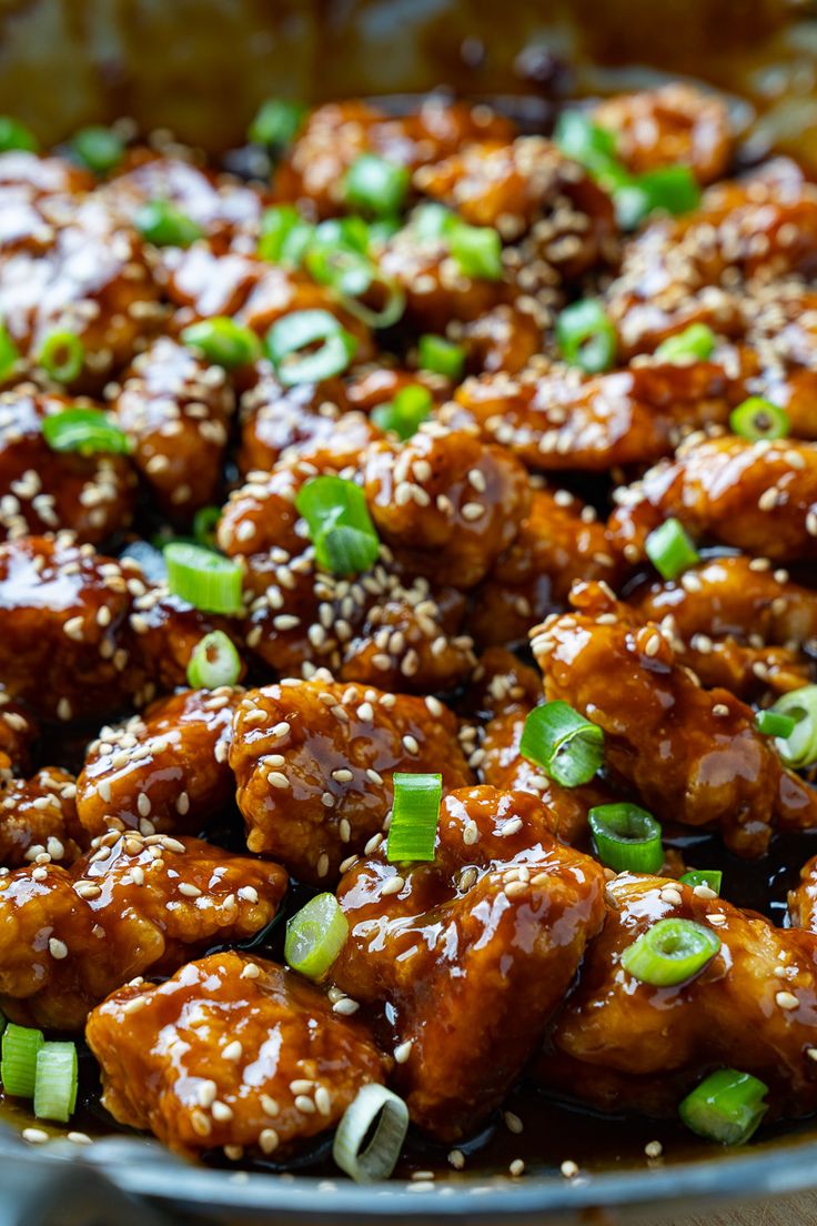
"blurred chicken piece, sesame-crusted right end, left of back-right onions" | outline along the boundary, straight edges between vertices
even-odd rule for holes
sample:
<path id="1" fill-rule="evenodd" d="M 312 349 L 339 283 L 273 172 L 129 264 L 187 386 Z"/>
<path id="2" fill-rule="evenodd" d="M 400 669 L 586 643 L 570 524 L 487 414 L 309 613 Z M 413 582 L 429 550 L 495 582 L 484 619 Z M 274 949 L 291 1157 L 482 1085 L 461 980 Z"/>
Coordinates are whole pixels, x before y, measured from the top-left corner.
<path id="1" fill-rule="evenodd" d="M 567 281 L 598 264 L 615 233 L 609 195 L 544 136 L 474 142 L 415 170 L 414 184 L 507 242 L 529 233 L 527 254 Z"/>

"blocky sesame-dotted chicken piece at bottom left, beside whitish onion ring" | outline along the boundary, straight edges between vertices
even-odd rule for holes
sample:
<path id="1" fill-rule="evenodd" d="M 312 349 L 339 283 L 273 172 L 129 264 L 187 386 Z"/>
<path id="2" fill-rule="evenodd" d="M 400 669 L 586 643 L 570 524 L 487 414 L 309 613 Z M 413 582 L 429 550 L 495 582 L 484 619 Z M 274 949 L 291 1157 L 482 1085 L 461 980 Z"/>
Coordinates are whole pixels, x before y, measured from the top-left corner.
<path id="1" fill-rule="evenodd" d="M 114 1118 L 189 1157 L 290 1150 L 386 1075 L 361 1022 L 294 972 L 235 953 L 122 988 L 94 1009 L 86 1037 Z"/>

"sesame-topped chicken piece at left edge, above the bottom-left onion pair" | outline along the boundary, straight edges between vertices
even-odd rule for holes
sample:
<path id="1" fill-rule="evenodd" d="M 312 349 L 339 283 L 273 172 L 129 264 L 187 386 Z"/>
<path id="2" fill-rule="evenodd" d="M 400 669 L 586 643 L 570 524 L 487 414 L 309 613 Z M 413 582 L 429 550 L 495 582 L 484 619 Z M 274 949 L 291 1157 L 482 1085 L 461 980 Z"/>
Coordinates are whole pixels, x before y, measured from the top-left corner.
<path id="1" fill-rule="evenodd" d="M 81 1030 L 135 976 L 261 932 L 287 890 L 278 864 L 197 839 L 113 830 L 97 845 L 70 872 L 0 878 L 0 1003 L 23 1025 Z"/>

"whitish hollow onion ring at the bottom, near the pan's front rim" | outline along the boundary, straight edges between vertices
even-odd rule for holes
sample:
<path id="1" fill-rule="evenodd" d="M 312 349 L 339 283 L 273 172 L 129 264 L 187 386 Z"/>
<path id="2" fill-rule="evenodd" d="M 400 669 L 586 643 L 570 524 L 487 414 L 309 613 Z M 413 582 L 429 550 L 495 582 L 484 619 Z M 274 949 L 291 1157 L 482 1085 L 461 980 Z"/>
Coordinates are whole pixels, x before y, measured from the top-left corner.
<path id="1" fill-rule="evenodd" d="M 332 1145 L 332 1157 L 356 1183 L 387 1179 L 401 1156 L 409 1113 L 402 1098 L 371 1081 L 343 1113 Z M 374 1133 L 372 1133 L 374 1129 Z M 366 1138 L 371 1140 L 366 1145 Z"/>

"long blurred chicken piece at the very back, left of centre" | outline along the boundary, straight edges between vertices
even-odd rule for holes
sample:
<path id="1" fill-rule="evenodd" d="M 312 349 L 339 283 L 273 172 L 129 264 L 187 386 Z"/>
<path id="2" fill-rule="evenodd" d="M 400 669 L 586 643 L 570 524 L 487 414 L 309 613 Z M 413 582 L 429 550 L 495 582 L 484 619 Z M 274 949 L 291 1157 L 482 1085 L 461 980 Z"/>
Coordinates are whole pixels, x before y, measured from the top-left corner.
<path id="1" fill-rule="evenodd" d="M 412 114 L 387 115 L 366 102 L 332 102 L 311 113 L 278 167 L 276 196 L 332 217 L 343 204 L 345 172 L 361 153 L 415 169 L 463 143 L 512 136 L 513 125 L 485 105 L 429 98 Z"/>

